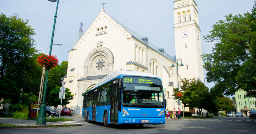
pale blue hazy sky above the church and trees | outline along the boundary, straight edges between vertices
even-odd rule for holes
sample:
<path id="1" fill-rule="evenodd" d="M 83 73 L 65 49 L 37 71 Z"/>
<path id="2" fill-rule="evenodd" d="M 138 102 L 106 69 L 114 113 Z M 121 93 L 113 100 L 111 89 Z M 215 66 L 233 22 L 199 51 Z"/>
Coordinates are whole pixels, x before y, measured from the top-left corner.
<path id="1" fill-rule="evenodd" d="M 83 22 L 85 32 L 103 8 L 111 17 L 126 27 L 147 37 L 169 55 L 175 55 L 174 40 L 174 3 L 173 0 L 59 0 L 52 55 L 61 61 L 68 61 L 68 51 L 71 49 L 76 34 Z M 225 15 L 251 12 L 254 0 L 195 0 L 201 30 L 202 54 L 212 53 L 213 43 L 203 40 L 203 36 L 212 30 L 211 26 L 219 20 L 225 20 Z M 35 29 L 36 49 L 40 53 L 49 54 L 53 21 L 57 2 L 48 0 L 0 0 L 0 13 L 7 16 L 19 14 L 28 25 Z M 47 50 L 48 48 L 48 50 Z M 204 77 L 207 71 L 204 70 Z M 207 82 L 209 88 L 214 83 Z"/>

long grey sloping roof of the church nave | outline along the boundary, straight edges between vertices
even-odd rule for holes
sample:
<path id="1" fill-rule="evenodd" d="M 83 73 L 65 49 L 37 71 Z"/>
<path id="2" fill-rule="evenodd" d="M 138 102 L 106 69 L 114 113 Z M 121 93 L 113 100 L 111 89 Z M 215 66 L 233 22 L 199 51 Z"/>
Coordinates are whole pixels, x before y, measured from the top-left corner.
<path id="1" fill-rule="evenodd" d="M 112 17 L 113 18 L 113 17 Z M 114 19 L 114 18 L 113 18 Z M 148 47 L 152 48 L 153 50 L 155 50 L 156 52 L 158 52 L 160 55 L 165 56 L 166 58 L 173 60 L 176 58 L 176 56 L 170 56 L 169 54 L 167 54 L 166 52 L 161 52 L 159 50 L 161 50 L 160 48 L 158 48 L 157 46 L 155 46 L 154 44 L 152 44 L 151 42 L 147 41 L 143 41 L 144 39 L 146 39 L 147 37 L 142 37 L 140 35 L 138 35 L 137 33 L 135 33 L 134 31 L 132 31 L 131 29 L 129 29 L 128 27 L 126 27 L 125 25 L 123 25 L 122 23 L 120 23 L 119 21 L 117 21 L 116 19 L 114 19 L 119 25 L 121 25 L 124 29 L 126 29 L 127 32 L 129 32 L 133 38 L 141 41 L 142 43 L 146 44 Z M 176 62 L 175 62 L 176 63 Z"/>

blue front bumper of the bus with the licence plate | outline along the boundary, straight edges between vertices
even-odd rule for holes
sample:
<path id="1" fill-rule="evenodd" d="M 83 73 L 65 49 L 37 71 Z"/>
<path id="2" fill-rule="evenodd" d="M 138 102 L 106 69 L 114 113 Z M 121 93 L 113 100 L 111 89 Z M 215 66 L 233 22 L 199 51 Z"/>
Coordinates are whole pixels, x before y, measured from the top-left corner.
<path id="1" fill-rule="evenodd" d="M 165 118 L 119 117 L 118 124 L 164 124 Z"/>

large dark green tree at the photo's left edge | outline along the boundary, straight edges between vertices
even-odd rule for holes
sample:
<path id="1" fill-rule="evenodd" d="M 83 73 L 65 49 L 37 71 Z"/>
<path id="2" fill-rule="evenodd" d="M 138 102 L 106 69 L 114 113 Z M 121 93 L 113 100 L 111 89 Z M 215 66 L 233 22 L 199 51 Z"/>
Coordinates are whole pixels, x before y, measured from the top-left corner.
<path id="1" fill-rule="evenodd" d="M 23 93 L 33 94 L 35 81 L 32 56 L 35 50 L 34 29 L 19 15 L 0 15 L 0 98 L 11 103 L 22 101 Z M 35 72 L 34 72 L 35 73 Z"/>

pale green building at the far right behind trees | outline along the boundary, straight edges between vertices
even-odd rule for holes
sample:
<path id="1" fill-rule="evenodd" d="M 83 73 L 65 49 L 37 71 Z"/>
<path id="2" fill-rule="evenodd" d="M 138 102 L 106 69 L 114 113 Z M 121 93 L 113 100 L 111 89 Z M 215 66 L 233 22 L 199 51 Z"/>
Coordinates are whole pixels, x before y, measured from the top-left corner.
<path id="1" fill-rule="evenodd" d="M 242 112 L 243 115 L 249 115 L 249 110 L 256 110 L 254 97 L 246 96 L 246 91 L 239 89 L 235 92 L 237 112 Z"/>

